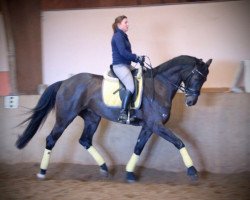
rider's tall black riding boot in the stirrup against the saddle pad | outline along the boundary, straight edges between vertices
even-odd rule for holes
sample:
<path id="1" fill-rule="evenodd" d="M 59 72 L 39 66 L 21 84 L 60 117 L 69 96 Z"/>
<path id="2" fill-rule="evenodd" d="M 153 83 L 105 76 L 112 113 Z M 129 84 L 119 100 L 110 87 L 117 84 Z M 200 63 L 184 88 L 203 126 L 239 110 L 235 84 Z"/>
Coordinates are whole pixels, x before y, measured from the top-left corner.
<path id="1" fill-rule="evenodd" d="M 118 121 L 121 123 L 126 123 L 128 119 L 128 109 L 132 100 L 132 93 L 129 90 L 125 91 L 125 96 L 123 97 L 122 100 L 122 108 L 120 112 L 120 116 L 118 118 Z"/>

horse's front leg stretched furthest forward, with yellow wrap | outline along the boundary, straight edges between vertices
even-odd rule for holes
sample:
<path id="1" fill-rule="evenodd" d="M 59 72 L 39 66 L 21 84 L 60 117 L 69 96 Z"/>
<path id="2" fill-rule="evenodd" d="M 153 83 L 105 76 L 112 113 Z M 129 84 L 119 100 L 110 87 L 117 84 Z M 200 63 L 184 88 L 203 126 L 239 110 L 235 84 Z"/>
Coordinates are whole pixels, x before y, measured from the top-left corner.
<path id="1" fill-rule="evenodd" d="M 178 138 L 169 128 L 166 128 L 162 123 L 155 123 L 153 126 L 153 131 L 165 140 L 171 142 L 177 149 L 179 149 L 183 162 L 187 167 L 187 175 L 190 176 L 192 180 L 196 180 L 198 178 L 198 172 L 193 166 L 193 161 L 189 156 L 182 140 Z"/>

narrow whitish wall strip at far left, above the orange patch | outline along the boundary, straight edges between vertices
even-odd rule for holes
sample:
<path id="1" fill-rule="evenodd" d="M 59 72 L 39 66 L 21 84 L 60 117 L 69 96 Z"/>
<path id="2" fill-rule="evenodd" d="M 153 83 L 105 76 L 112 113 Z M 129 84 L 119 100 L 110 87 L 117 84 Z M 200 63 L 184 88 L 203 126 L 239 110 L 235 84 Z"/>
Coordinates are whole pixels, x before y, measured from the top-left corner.
<path id="1" fill-rule="evenodd" d="M 0 72 L 8 70 L 9 70 L 9 64 L 8 64 L 6 35 L 4 29 L 3 15 L 0 13 Z"/>

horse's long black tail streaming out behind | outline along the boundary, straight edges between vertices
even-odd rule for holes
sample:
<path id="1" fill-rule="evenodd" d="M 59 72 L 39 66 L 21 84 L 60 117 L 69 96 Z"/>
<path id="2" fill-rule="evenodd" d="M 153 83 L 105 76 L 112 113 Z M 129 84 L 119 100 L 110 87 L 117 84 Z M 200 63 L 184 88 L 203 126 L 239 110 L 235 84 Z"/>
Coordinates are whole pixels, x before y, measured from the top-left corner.
<path id="1" fill-rule="evenodd" d="M 56 101 L 56 94 L 62 84 L 62 81 L 50 85 L 42 94 L 35 108 L 31 110 L 32 115 L 21 124 L 30 120 L 27 128 L 16 141 L 18 149 L 24 148 L 31 138 L 36 134 L 41 123 L 45 121 L 48 113 L 54 108 Z M 21 125 L 20 124 L 20 125 Z"/>

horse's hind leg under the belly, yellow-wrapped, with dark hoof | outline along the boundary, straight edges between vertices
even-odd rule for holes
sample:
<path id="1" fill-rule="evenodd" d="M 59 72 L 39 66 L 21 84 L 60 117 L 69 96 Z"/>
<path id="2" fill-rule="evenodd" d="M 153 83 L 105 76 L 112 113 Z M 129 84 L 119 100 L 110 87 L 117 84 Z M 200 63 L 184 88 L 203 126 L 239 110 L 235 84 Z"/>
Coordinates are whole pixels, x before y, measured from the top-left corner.
<path id="1" fill-rule="evenodd" d="M 84 110 L 79 114 L 84 119 L 84 130 L 79 139 L 80 144 L 88 150 L 97 164 L 100 166 L 100 172 L 107 176 L 108 168 L 103 159 L 103 157 L 99 154 L 99 152 L 93 147 L 92 139 L 95 131 L 100 123 L 101 117 L 96 115 L 91 110 Z"/>

